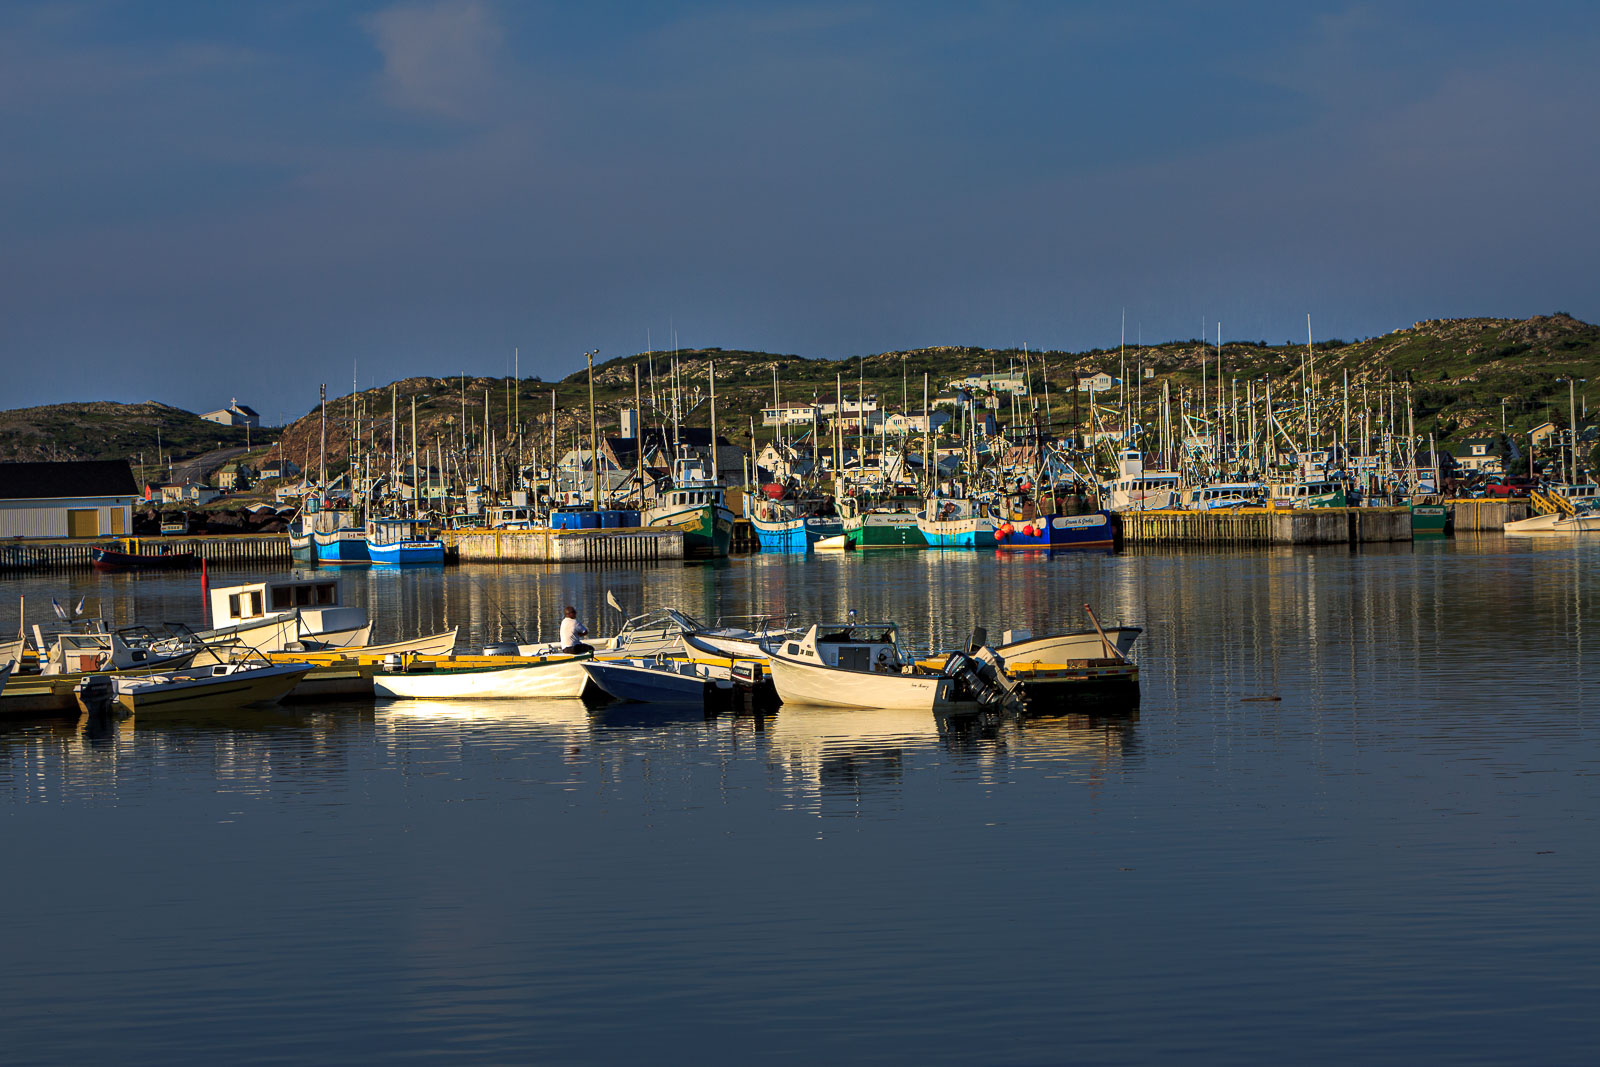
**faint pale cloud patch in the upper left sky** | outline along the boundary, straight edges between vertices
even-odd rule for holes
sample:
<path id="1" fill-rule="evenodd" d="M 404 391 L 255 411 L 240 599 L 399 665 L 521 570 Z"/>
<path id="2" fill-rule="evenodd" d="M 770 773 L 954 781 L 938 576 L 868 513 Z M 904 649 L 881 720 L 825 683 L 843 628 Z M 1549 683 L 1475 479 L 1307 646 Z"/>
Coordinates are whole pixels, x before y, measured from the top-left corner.
<path id="1" fill-rule="evenodd" d="M 378 90 L 395 107 L 480 120 L 493 106 L 501 30 L 482 0 L 398 5 L 362 24 L 384 58 Z"/>

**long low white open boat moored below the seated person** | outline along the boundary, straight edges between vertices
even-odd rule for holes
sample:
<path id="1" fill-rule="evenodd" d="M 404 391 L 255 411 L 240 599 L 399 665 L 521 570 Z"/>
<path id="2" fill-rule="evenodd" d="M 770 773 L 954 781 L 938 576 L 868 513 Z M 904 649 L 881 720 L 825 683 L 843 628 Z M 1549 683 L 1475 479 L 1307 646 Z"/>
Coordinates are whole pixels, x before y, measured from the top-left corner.
<path id="1" fill-rule="evenodd" d="M 426 701 L 578 699 L 589 685 L 582 656 L 390 656 L 373 694 Z"/>

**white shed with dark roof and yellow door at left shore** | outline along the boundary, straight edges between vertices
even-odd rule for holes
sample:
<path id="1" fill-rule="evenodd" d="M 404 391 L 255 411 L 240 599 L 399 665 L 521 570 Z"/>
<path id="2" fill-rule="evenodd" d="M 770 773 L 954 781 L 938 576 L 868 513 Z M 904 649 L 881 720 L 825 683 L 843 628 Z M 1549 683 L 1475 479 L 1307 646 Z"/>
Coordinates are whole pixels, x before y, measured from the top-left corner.
<path id="1" fill-rule="evenodd" d="M 0 462 L 0 537 L 120 537 L 138 498 L 125 459 Z"/>

